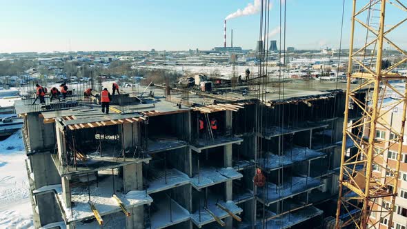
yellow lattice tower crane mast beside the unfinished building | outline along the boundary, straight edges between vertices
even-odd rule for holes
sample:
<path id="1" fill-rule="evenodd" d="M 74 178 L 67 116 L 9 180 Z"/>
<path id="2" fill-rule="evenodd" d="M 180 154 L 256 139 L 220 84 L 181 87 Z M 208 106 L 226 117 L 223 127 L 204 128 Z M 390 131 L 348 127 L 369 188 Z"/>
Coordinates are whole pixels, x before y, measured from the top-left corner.
<path id="1" fill-rule="evenodd" d="M 379 228 L 381 220 L 384 220 L 388 227 L 392 225 L 406 121 L 407 86 L 396 88 L 392 86 L 391 81 L 407 82 L 406 77 L 393 73 L 395 68 L 406 63 L 407 54 L 390 41 L 388 34 L 393 33 L 393 30 L 407 20 L 407 8 L 401 0 L 365 0 L 367 4 L 364 6 L 357 4 L 360 2 L 353 0 L 335 228 L 351 225 L 353 228 Z M 390 7 L 400 10 L 397 15 L 404 18 L 385 29 L 386 8 Z M 373 9 L 379 12 L 375 17 L 379 19 L 378 23 L 375 23 L 377 28 L 373 25 L 373 17 L 369 17 Z M 368 23 L 360 19 L 366 14 Z M 354 49 L 355 23 L 366 31 L 366 43 L 359 49 Z M 382 68 L 384 42 L 401 53 L 401 59 L 386 69 Z M 366 58 L 366 53 L 371 54 L 371 57 Z M 355 71 L 354 67 L 359 69 Z M 360 83 L 352 85 L 351 81 L 355 79 Z M 366 97 L 358 96 L 357 92 L 361 90 L 366 92 Z M 395 94 L 397 99 L 384 102 L 389 93 Z M 401 107 L 401 123 L 389 123 L 386 117 Z M 357 119 L 350 119 L 350 113 L 355 114 L 356 109 L 361 115 Z M 390 133 L 393 139 L 378 139 L 378 129 Z M 346 140 L 353 142 L 355 150 L 347 150 Z M 386 156 L 390 148 L 398 150 L 395 163 L 389 163 Z M 376 172 L 378 170 L 381 172 Z M 375 212 L 377 219 L 370 217 L 372 212 Z"/>

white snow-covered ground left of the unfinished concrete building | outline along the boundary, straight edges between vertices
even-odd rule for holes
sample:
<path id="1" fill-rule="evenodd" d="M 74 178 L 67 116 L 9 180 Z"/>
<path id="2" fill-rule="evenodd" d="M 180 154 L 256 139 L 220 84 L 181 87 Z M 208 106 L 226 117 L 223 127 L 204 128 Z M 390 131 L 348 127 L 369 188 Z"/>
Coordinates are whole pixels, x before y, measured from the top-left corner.
<path id="1" fill-rule="evenodd" d="M 21 131 L 0 141 L 0 228 L 34 228 Z"/>

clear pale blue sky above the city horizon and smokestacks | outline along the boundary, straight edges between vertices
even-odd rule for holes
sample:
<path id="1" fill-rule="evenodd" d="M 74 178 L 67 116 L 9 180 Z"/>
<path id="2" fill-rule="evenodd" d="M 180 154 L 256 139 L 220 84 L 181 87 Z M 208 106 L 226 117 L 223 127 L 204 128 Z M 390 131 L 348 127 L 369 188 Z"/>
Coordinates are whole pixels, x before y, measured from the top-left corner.
<path id="1" fill-rule="evenodd" d="M 208 50 L 223 45 L 224 18 L 253 1 L 1 1 L 0 52 Z M 271 31 L 279 26 L 279 0 L 270 1 Z M 286 1 L 286 46 L 339 48 L 342 0 Z M 348 46 L 350 3 L 346 0 L 344 47 Z M 228 45 L 231 28 L 235 46 L 255 48 L 259 14 L 230 19 Z M 395 39 L 406 42 L 406 35 L 397 34 Z M 279 34 L 274 38 L 278 40 Z"/>

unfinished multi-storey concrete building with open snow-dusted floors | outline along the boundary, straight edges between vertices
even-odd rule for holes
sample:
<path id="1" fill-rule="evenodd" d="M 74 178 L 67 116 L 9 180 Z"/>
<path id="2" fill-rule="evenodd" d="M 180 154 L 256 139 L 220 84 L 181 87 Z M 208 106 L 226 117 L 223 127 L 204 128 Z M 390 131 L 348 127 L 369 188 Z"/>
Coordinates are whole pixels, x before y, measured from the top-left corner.
<path id="1" fill-rule="evenodd" d="M 315 228 L 335 214 L 335 84 L 266 100 L 163 91 L 115 95 L 110 115 L 78 97 L 16 102 L 36 228 Z"/>

